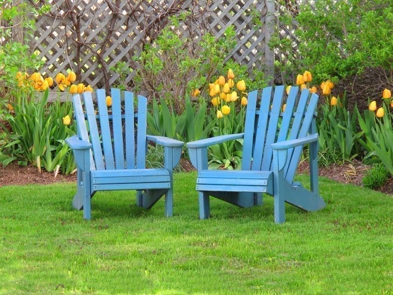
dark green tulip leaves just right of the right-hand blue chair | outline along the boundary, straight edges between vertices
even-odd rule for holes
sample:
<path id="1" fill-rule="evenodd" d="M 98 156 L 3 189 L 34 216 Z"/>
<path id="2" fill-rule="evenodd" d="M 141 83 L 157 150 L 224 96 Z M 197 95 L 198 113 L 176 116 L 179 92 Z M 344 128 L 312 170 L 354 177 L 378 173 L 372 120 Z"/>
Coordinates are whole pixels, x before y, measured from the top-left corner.
<path id="1" fill-rule="evenodd" d="M 337 98 L 336 105 L 330 105 L 329 101 L 320 105 L 317 127 L 325 164 L 352 161 L 361 153 L 359 138 L 364 131 L 358 131 L 358 112 L 351 115 L 344 104 Z"/>

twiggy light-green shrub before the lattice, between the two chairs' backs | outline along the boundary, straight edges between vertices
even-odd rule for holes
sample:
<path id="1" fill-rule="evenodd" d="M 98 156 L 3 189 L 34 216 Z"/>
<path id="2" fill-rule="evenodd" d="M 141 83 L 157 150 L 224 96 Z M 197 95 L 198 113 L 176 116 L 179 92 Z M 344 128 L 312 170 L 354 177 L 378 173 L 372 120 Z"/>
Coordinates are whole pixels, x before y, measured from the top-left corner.
<path id="1" fill-rule="evenodd" d="M 171 111 L 180 115 L 185 109 L 184 97 L 192 89 L 203 88 L 235 45 L 233 27 L 220 38 L 206 33 L 200 39 L 182 35 L 181 26 L 187 14 L 171 17 L 156 39 L 146 44 L 134 77 L 136 89 L 144 88 L 153 97 L 163 98 Z"/>

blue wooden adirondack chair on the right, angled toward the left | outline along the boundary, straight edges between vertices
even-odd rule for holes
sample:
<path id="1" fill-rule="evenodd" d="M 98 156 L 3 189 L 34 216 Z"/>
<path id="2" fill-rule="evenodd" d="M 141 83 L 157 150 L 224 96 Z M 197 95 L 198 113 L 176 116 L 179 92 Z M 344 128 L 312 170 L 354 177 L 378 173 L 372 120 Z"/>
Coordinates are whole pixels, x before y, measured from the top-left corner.
<path id="1" fill-rule="evenodd" d="M 274 197 L 274 221 L 285 221 L 284 202 L 315 211 L 325 207 L 318 193 L 318 134 L 315 110 L 318 96 L 283 86 L 248 94 L 244 133 L 221 135 L 188 142 L 190 160 L 198 170 L 196 190 L 199 217 L 210 217 L 210 196 L 240 207 L 262 204 L 262 193 Z M 281 112 L 285 103 L 286 108 Z M 257 110 L 257 101 L 260 104 Z M 243 138 L 242 170 L 208 169 L 208 146 Z M 309 144 L 310 191 L 294 176 L 305 144 Z"/>

